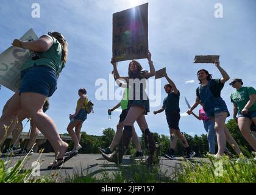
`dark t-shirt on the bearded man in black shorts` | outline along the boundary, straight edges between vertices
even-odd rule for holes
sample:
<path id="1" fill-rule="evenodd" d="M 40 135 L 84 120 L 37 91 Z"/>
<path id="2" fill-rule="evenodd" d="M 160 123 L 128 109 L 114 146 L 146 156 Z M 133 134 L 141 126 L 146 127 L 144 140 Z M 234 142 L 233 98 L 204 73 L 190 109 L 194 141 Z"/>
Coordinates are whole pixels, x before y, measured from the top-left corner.
<path id="1" fill-rule="evenodd" d="M 177 94 L 169 93 L 168 96 L 163 100 L 163 107 L 165 108 L 165 113 L 170 112 L 180 112 L 179 108 L 180 101 L 180 91 Z"/>

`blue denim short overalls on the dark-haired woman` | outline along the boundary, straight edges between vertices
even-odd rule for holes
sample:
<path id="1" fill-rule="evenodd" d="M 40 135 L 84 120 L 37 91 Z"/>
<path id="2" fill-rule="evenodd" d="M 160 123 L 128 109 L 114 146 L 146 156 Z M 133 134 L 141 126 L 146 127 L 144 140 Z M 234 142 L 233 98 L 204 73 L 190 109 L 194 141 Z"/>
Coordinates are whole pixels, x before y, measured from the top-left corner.
<path id="1" fill-rule="evenodd" d="M 213 117 L 218 113 L 227 112 L 227 116 L 229 115 L 229 110 L 227 110 L 227 105 L 222 98 L 215 98 L 210 90 L 210 82 L 205 87 L 200 85 L 199 87 L 199 95 L 201 102 L 204 104 L 204 111 L 208 117 Z"/>

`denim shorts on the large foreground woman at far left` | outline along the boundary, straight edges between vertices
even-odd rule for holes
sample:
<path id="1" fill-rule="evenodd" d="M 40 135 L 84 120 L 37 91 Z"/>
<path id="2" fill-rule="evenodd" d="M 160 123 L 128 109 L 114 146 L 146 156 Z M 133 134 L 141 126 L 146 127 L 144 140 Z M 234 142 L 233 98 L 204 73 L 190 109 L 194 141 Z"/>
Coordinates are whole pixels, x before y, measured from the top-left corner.
<path id="1" fill-rule="evenodd" d="M 51 97 L 57 89 L 57 76 L 48 66 L 36 66 L 21 71 L 21 93 L 39 93 Z"/>

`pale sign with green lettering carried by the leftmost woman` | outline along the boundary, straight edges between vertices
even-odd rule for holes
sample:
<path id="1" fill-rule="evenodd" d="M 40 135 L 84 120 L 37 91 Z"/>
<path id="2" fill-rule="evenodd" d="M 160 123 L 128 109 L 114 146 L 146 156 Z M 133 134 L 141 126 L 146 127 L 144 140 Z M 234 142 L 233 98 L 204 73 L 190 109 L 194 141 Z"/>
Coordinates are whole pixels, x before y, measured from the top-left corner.
<path id="1" fill-rule="evenodd" d="M 21 41 L 38 40 L 33 29 L 20 38 Z M 20 88 L 20 71 L 23 63 L 30 56 L 27 49 L 11 46 L 0 54 L 0 84 L 12 91 Z"/>

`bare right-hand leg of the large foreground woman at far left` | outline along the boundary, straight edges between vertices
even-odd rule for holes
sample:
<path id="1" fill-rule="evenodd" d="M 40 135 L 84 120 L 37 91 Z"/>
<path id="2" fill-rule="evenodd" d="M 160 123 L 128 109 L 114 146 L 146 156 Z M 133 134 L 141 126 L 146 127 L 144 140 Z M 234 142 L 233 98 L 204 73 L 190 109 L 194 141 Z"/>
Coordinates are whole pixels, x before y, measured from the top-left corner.
<path id="1" fill-rule="evenodd" d="M 65 143 L 57 132 L 54 121 L 43 112 L 46 96 L 38 93 L 22 93 L 21 106 L 23 111 L 31 116 L 35 126 L 49 140 L 55 151 L 56 158 L 63 158 L 68 144 Z"/>

